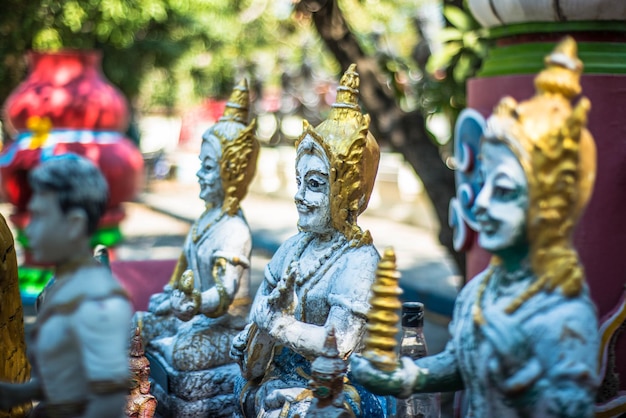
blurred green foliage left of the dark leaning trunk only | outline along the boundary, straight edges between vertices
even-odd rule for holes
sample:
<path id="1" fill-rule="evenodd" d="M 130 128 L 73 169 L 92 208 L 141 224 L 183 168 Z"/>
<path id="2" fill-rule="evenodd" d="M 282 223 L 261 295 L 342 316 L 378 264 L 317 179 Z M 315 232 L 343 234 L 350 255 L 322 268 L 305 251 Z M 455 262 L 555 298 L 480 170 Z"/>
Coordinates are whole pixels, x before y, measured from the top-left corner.
<path id="1" fill-rule="evenodd" d="M 100 49 L 109 80 L 155 110 L 224 97 L 243 76 L 279 83 L 279 62 L 302 63 L 303 38 L 306 49 L 320 44 L 291 9 L 256 0 L 3 0 L 2 9 L 0 102 L 25 77 L 29 49 Z"/>

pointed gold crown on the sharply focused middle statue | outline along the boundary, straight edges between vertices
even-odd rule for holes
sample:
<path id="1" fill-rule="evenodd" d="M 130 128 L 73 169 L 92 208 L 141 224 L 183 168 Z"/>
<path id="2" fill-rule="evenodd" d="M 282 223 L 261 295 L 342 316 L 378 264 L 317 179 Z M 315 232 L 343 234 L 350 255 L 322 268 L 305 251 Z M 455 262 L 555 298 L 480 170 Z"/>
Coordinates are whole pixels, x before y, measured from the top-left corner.
<path id="1" fill-rule="evenodd" d="M 309 136 L 328 157 L 333 226 L 355 246 L 372 242 L 369 232 L 357 225 L 357 217 L 367 208 L 380 159 L 378 143 L 369 132 L 369 115 L 361 113 L 358 96 L 359 74 L 352 64 L 341 77 L 328 119 L 315 128 L 305 120 L 296 141 L 298 147 Z"/>

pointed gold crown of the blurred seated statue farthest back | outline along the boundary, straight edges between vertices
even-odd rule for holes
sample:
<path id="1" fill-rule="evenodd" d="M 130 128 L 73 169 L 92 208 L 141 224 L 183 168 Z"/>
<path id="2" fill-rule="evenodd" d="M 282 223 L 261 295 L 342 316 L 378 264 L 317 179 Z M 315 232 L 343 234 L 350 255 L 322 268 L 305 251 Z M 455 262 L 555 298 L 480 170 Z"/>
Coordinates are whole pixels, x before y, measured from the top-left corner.
<path id="1" fill-rule="evenodd" d="M 237 213 L 248 192 L 259 155 L 256 120 L 246 126 L 249 105 L 248 82 L 243 79 L 233 89 L 222 117 L 204 135 L 213 134 L 220 139 L 220 175 L 225 194 L 222 211 L 230 216 Z"/>

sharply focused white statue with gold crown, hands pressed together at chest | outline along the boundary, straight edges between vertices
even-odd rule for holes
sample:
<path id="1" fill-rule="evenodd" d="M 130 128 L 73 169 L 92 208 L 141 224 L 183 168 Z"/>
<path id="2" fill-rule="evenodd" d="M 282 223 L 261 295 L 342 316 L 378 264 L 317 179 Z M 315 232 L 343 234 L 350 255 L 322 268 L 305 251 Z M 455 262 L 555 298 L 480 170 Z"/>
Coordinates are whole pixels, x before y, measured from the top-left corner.
<path id="1" fill-rule="evenodd" d="M 313 399 L 311 361 L 323 355 L 329 328 L 340 358 L 361 348 L 379 256 L 357 217 L 367 206 L 380 153 L 357 104 L 355 69 L 341 78 L 328 119 L 316 128 L 304 123 L 296 141 L 299 233 L 266 266 L 251 323 L 233 340 L 231 355 L 244 377 L 236 393 L 247 417 L 304 416 Z M 350 383 L 345 392 L 352 413 L 380 416 L 371 394 L 357 395 Z"/>

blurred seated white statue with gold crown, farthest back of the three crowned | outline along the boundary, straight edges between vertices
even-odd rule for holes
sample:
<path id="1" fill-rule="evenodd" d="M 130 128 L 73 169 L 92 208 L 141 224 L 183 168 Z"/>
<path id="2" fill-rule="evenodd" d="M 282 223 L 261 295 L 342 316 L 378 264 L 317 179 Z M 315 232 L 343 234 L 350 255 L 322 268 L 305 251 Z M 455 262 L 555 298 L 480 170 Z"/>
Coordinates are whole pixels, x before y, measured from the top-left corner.
<path id="1" fill-rule="evenodd" d="M 153 385 L 159 410 L 174 415 L 228 414 L 225 398 L 210 401 L 216 393 L 203 382 L 237 373 L 230 344 L 245 326 L 251 302 L 252 235 L 239 207 L 259 152 L 255 122 L 246 125 L 248 106 L 243 80 L 202 137 L 197 176 L 206 210 L 189 231 L 170 282 L 152 295 L 148 312 L 134 318 L 135 325 L 142 323 L 152 369 L 164 368 L 170 379 Z M 232 393 L 232 385 L 218 386 L 222 396 Z"/>

